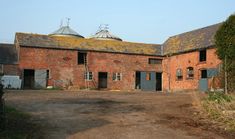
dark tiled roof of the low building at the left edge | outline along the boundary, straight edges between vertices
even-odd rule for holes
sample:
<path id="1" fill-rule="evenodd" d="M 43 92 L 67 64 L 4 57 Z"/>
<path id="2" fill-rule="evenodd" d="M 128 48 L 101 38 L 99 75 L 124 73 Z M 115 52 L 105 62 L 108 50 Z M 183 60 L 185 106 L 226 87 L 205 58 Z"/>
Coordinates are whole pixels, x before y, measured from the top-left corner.
<path id="1" fill-rule="evenodd" d="M 0 44 L 0 64 L 17 64 L 17 57 L 13 44 Z"/>

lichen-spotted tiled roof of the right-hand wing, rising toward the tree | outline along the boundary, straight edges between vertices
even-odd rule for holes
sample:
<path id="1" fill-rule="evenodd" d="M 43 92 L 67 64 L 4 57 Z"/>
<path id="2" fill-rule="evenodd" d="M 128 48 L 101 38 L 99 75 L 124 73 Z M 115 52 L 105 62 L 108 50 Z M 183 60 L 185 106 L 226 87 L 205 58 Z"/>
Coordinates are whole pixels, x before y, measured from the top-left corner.
<path id="1" fill-rule="evenodd" d="M 221 23 L 170 37 L 163 44 L 164 55 L 213 46 L 214 35 L 220 25 Z"/>

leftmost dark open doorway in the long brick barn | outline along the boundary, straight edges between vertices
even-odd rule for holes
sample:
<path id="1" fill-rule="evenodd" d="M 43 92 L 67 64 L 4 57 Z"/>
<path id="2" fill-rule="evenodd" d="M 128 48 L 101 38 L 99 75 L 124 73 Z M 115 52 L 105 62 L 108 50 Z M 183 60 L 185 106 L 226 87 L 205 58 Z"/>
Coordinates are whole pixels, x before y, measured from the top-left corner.
<path id="1" fill-rule="evenodd" d="M 34 70 L 24 70 L 24 89 L 34 88 Z"/>

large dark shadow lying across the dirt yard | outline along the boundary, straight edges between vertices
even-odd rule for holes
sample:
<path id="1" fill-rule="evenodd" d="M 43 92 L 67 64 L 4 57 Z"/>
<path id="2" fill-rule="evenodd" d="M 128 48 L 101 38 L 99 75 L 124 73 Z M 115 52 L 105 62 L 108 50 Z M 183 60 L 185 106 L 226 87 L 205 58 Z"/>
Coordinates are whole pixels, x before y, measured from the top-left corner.
<path id="1" fill-rule="evenodd" d="M 37 107 L 34 104 L 29 109 L 34 117 L 33 122 L 44 129 L 42 134 L 45 138 L 66 138 L 68 135 L 111 124 L 102 118 L 109 114 L 145 110 L 141 105 L 102 98 L 53 98 L 43 102 L 43 105 Z"/>

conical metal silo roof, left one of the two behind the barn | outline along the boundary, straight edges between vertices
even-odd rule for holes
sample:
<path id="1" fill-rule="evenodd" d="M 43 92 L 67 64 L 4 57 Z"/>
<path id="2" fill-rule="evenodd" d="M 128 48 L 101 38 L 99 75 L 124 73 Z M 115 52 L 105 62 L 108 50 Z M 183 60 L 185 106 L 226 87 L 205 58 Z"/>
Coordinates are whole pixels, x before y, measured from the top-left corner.
<path id="1" fill-rule="evenodd" d="M 55 35 L 55 36 L 73 36 L 73 37 L 84 38 L 82 35 L 78 34 L 76 31 L 71 29 L 69 26 L 62 26 L 58 30 L 52 32 L 49 35 Z"/>

